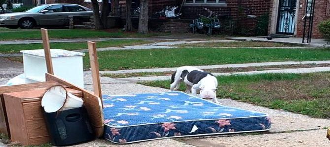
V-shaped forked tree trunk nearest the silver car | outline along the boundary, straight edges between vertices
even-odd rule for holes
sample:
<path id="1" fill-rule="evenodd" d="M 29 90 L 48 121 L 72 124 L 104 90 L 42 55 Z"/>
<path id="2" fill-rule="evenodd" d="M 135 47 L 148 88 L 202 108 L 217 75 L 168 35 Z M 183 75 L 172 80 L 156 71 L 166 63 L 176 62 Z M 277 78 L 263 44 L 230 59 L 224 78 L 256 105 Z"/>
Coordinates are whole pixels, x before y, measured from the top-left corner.
<path id="1" fill-rule="evenodd" d="M 104 29 L 107 26 L 107 12 L 108 12 L 108 0 L 102 0 L 102 10 L 99 13 L 99 2 L 97 0 L 91 0 L 93 7 L 93 16 L 95 29 Z"/>

